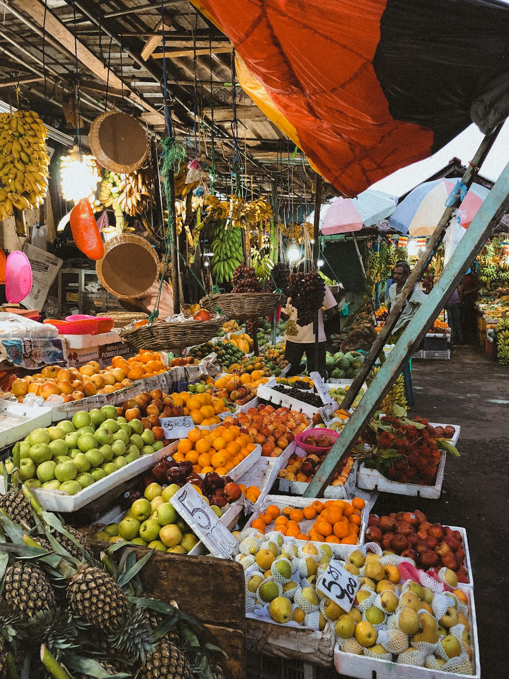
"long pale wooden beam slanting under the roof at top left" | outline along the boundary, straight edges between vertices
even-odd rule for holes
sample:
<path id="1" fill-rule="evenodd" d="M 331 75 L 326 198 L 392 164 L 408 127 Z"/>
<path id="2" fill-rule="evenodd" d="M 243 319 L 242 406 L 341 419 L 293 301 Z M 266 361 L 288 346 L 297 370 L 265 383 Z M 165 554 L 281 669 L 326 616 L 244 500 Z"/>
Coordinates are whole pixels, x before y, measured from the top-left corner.
<path id="1" fill-rule="evenodd" d="M 76 41 L 75 45 L 73 33 L 68 31 L 64 24 L 50 10 L 45 12 L 45 5 L 43 3 L 39 0 L 16 0 L 16 7 L 30 16 L 39 26 L 45 26 L 45 31 L 48 31 L 54 39 L 58 40 L 68 52 L 75 54 L 76 48 L 78 60 L 100 80 L 109 82 L 110 86 L 119 90 L 123 88 L 128 89 L 129 98 L 132 101 L 138 103 L 143 109 L 157 115 L 164 122 L 164 116 L 157 109 L 143 100 L 136 92 L 123 86 L 121 79 L 113 71 L 107 69 L 100 59 L 90 52 L 86 45 L 83 45 L 79 40 Z"/>

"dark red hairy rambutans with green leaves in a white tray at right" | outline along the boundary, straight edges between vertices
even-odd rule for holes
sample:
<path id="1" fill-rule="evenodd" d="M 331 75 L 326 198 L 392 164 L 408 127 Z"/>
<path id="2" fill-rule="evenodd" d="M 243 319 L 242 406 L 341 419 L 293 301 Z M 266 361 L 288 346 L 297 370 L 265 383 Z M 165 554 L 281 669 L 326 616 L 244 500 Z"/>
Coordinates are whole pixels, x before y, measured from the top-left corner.
<path id="1" fill-rule="evenodd" d="M 391 481 L 434 485 L 440 452 L 445 450 L 459 456 L 449 441 L 454 433 L 451 425 L 433 427 L 423 418 L 372 420 L 362 435 L 364 443 L 371 448 L 369 451 L 356 449 L 352 454 Z"/>

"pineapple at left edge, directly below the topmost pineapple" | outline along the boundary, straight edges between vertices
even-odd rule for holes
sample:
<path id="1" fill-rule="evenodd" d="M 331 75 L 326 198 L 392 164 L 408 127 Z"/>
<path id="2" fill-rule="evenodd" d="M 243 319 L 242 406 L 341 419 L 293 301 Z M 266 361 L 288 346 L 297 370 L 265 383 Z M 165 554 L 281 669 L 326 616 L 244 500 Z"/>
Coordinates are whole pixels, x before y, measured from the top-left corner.
<path id="1" fill-rule="evenodd" d="M 7 567 L 3 597 L 8 606 L 28 617 L 57 607 L 55 593 L 44 571 L 31 562 L 15 562 Z"/>

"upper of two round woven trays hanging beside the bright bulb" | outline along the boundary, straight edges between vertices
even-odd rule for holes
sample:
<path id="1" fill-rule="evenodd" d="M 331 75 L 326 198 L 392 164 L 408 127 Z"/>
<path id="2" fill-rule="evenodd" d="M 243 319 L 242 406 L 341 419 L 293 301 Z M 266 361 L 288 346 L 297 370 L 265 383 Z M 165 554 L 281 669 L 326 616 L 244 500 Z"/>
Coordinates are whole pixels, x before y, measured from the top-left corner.
<path id="1" fill-rule="evenodd" d="M 120 111 L 98 115 L 88 134 L 90 149 L 111 172 L 127 175 L 138 170 L 149 155 L 149 140 L 136 118 Z"/>

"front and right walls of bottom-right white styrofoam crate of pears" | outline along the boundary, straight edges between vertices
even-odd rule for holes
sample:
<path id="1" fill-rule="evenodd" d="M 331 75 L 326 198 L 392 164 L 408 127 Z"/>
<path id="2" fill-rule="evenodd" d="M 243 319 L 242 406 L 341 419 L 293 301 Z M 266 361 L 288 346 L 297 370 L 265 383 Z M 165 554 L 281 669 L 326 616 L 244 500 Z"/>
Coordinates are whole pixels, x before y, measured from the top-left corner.
<path id="1" fill-rule="evenodd" d="M 474 590 L 464 589 L 468 597 L 468 621 L 470 622 L 470 636 L 472 637 L 472 664 L 474 674 L 451 674 L 440 672 L 427 667 L 413 665 L 398 665 L 388 660 L 369 658 L 355 653 L 343 653 L 339 644 L 334 648 L 334 666 L 340 676 L 356 677 L 356 679 L 450 679 L 455 677 L 474 677 L 480 679 L 479 640 L 477 634 L 477 618 L 474 602 Z"/>

